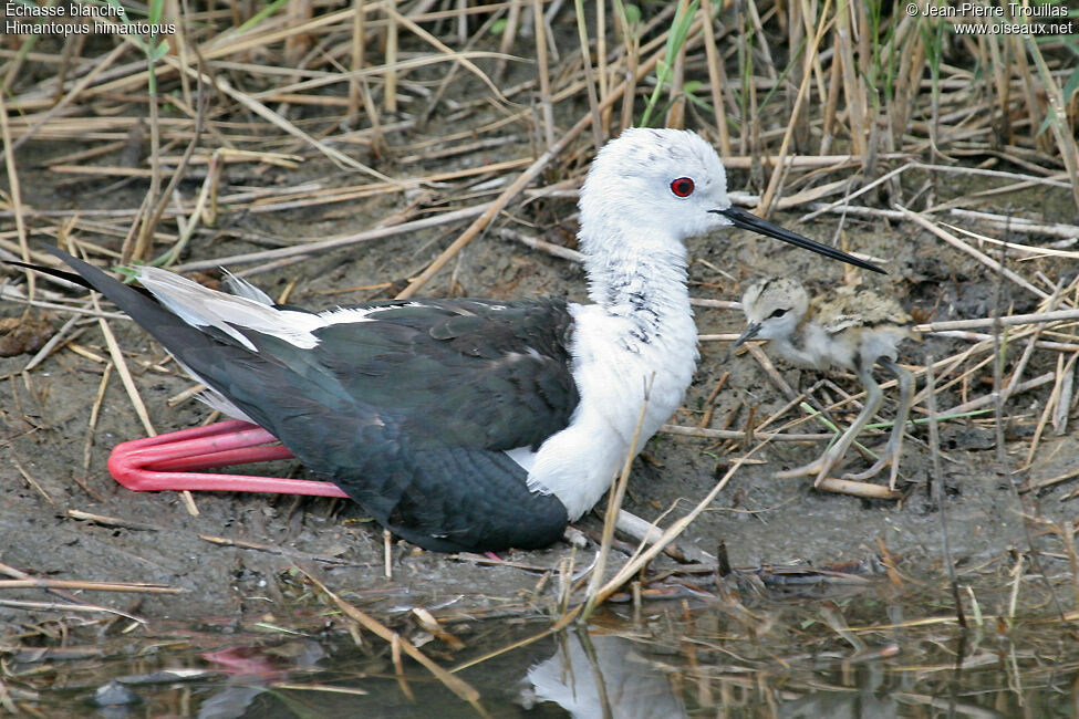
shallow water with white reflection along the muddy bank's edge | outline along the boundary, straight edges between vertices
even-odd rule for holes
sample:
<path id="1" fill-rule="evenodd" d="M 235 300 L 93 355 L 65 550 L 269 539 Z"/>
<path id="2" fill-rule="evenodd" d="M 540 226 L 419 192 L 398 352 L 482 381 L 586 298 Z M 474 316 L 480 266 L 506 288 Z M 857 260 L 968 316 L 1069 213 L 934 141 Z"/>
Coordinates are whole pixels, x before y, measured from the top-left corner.
<path id="1" fill-rule="evenodd" d="M 471 704 L 407 658 L 398 674 L 387 643 L 341 631 L 329 612 L 294 631 L 206 624 L 76 643 L 86 625 L 66 648 L 9 653 L 4 684 L 44 716 L 1072 717 L 1079 643 L 1031 582 L 1010 619 L 986 609 L 1008 606 L 1007 587 L 964 588 L 966 631 L 938 585 L 884 579 L 853 592 L 741 583 L 708 602 L 610 604 L 557 635 L 535 614 L 443 617 L 442 638 L 408 615 L 382 617 L 456 668 Z"/>

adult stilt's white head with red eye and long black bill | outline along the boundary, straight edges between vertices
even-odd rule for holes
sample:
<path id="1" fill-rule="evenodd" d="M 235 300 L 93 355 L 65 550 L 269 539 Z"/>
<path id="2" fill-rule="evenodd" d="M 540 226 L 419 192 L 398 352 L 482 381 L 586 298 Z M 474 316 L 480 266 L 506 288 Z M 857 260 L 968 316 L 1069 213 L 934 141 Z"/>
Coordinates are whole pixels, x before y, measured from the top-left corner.
<path id="1" fill-rule="evenodd" d="M 624 131 L 596 154 L 579 205 L 581 249 L 592 257 L 625 250 L 681 257 L 686 238 L 734 226 L 883 272 L 733 206 L 719 156 L 692 131 Z"/>

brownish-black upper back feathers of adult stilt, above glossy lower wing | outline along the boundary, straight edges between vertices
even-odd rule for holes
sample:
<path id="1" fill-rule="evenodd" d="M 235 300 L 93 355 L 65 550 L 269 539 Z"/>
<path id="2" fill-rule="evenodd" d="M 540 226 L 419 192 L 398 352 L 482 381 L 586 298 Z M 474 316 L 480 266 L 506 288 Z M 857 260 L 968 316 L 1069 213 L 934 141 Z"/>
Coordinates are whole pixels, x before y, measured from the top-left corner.
<path id="1" fill-rule="evenodd" d="M 393 410 L 409 436 L 483 449 L 539 447 L 579 396 L 561 300 L 423 301 L 331 325 L 315 362 L 350 396 Z"/>

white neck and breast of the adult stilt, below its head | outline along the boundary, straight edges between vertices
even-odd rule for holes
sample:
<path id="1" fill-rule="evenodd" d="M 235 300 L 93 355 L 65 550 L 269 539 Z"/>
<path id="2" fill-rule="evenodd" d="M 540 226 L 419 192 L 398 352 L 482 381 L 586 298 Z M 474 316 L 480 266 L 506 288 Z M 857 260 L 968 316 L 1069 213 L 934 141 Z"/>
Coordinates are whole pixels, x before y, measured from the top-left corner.
<path id="1" fill-rule="evenodd" d="M 595 303 L 570 308 L 581 402 L 570 426 L 548 439 L 526 467 L 529 486 L 553 492 L 571 520 L 599 500 L 626 455 L 639 452 L 677 409 L 697 359 L 682 243 L 657 241 L 654 233 L 633 237 L 629 228 L 610 231 L 581 237 Z M 598 239 L 606 241 L 599 246 Z"/>

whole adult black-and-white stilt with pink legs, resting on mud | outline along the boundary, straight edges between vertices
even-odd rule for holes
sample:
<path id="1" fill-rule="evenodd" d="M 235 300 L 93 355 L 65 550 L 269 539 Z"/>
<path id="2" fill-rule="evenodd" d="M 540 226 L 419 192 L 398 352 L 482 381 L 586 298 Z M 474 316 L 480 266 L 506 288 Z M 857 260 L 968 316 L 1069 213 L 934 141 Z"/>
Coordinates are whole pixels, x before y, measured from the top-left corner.
<path id="1" fill-rule="evenodd" d="M 135 269 L 137 290 L 53 250 L 209 387 L 208 404 L 258 426 L 136 440 L 114 451 L 114 476 L 133 489 L 343 492 L 438 551 L 544 546 L 599 500 L 689 385 L 697 332 L 683 240 L 735 226 L 876 270 L 733 207 L 719 157 L 692 132 L 627 129 L 608 143 L 580 209 L 591 304 L 408 300 L 305 312 L 245 282 L 226 294 L 151 267 Z M 273 439 L 340 491 L 187 471 L 255 461 Z"/>

